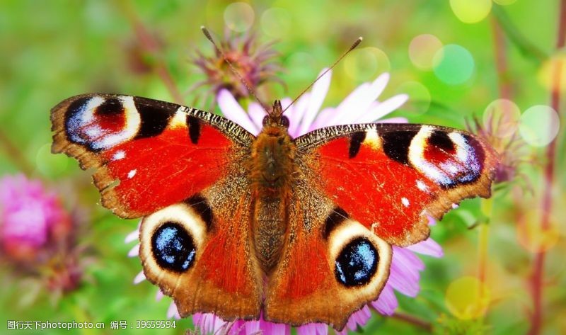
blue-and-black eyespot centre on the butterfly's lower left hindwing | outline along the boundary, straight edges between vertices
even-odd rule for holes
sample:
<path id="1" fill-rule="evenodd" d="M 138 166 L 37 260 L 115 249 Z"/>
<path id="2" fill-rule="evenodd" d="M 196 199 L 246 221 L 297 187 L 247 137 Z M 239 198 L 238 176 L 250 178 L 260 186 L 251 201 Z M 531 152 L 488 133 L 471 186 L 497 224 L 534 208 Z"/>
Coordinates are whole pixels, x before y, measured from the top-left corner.
<path id="1" fill-rule="evenodd" d="M 195 242 L 178 223 L 166 222 L 151 237 L 151 250 L 161 268 L 187 271 L 195 260 Z"/>

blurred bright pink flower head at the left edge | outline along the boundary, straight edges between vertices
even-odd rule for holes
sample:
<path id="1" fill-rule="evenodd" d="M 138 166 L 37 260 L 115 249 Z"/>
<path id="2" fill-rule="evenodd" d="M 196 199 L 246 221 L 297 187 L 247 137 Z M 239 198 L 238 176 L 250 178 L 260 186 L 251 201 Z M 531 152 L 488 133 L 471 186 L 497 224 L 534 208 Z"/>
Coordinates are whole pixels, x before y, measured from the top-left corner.
<path id="1" fill-rule="evenodd" d="M 23 175 L 0 179 L 0 246 L 16 261 L 39 261 L 71 221 L 57 196 Z"/>

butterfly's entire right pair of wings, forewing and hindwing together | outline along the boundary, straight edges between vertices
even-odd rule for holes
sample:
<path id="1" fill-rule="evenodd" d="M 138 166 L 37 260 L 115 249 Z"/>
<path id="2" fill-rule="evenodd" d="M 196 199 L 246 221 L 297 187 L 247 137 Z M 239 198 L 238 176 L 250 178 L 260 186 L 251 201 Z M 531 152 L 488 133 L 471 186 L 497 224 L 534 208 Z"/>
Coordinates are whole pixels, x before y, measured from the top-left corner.
<path id="1" fill-rule="evenodd" d="M 497 158 L 466 132 L 429 125 L 344 125 L 295 141 L 301 176 L 291 231 L 267 288 L 266 317 L 342 329 L 376 300 L 391 244 L 429 235 L 428 218 L 490 195 Z M 288 312 L 299 311 L 299 312 Z"/>

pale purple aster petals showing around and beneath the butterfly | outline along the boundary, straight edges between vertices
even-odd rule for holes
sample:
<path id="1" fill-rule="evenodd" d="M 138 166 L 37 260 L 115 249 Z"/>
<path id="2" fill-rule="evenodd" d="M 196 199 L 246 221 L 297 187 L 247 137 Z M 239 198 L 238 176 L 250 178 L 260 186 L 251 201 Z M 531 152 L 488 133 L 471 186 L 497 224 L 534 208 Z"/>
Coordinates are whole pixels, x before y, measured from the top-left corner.
<path id="1" fill-rule="evenodd" d="M 398 94 L 384 101 L 378 98 L 385 89 L 389 80 L 389 74 L 381 74 L 371 83 L 358 86 L 342 103 L 335 108 L 320 107 L 328 93 L 332 72 L 328 72 L 320 78 L 311 91 L 304 93 L 293 106 L 285 112 L 289 118 L 289 134 L 298 137 L 306 132 L 327 127 L 330 125 L 344 125 L 352 123 L 407 123 L 405 118 L 388 118 L 384 116 L 399 108 L 408 100 L 406 94 Z M 226 118 L 246 128 L 254 135 L 258 135 L 262 128 L 262 120 L 266 115 L 265 110 L 259 103 L 250 103 L 248 112 L 244 110 L 236 98 L 226 89 L 219 91 L 217 96 L 219 107 Z M 291 103 L 290 98 L 282 99 L 282 106 L 286 108 Z M 434 225 L 435 220 L 429 217 L 429 224 Z M 138 232 L 132 232 L 126 238 L 126 242 L 137 239 Z M 129 252 L 129 256 L 137 256 L 139 244 Z M 338 334 L 347 334 L 349 330 L 356 330 L 363 326 L 371 317 L 371 308 L 383 315 L 391 315 L 398 307 L 395 290 L 403 295 L 415 297 L 420 290 L 420 272 L 424 270 L 424 263 L 416 254 L 433 257 L 441 257 L 442 249 L 437 242 L 427 239 L 423 242 L 401 248 L 393 246 L 393 259 L 391 260 L 391 273 L 386 285 L 383 287 L 379 298 L 361 310 L 354 312 L 348 319 L 346 327 Z M 145 279 L 143 271 L 134 279 L 134 283 L 140 283 Z M 163 294 L 158 292 L 158 299 Z M 167 312 L 168 317 L 180 318 L 175 303 L 172 302 Z M 265 321 L 262 316 L 259 320 L 226 322 L 212 313 L 193 314 L 192 321 L 202 334 L 290 334 L 291 327 L 288 324 L 277 324 Z M 328 325 L 321 323 L 304 324 L 296 327 L 297 334 L 328 334 Z"/>

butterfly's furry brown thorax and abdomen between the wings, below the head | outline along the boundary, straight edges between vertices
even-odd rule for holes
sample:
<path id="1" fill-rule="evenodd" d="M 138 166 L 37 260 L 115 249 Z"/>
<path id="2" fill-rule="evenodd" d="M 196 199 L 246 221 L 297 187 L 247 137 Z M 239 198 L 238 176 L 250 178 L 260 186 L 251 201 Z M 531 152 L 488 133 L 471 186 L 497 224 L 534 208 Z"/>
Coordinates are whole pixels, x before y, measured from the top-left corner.
<path id="1" fill-rule="evenodd" d="M 264 127 L 252 144 L 250 160 L 253 244 L 263 271 L 277 265 L 287 232 L 288 204 L 293 183 L 295 145 L 285 127 Z"/>

